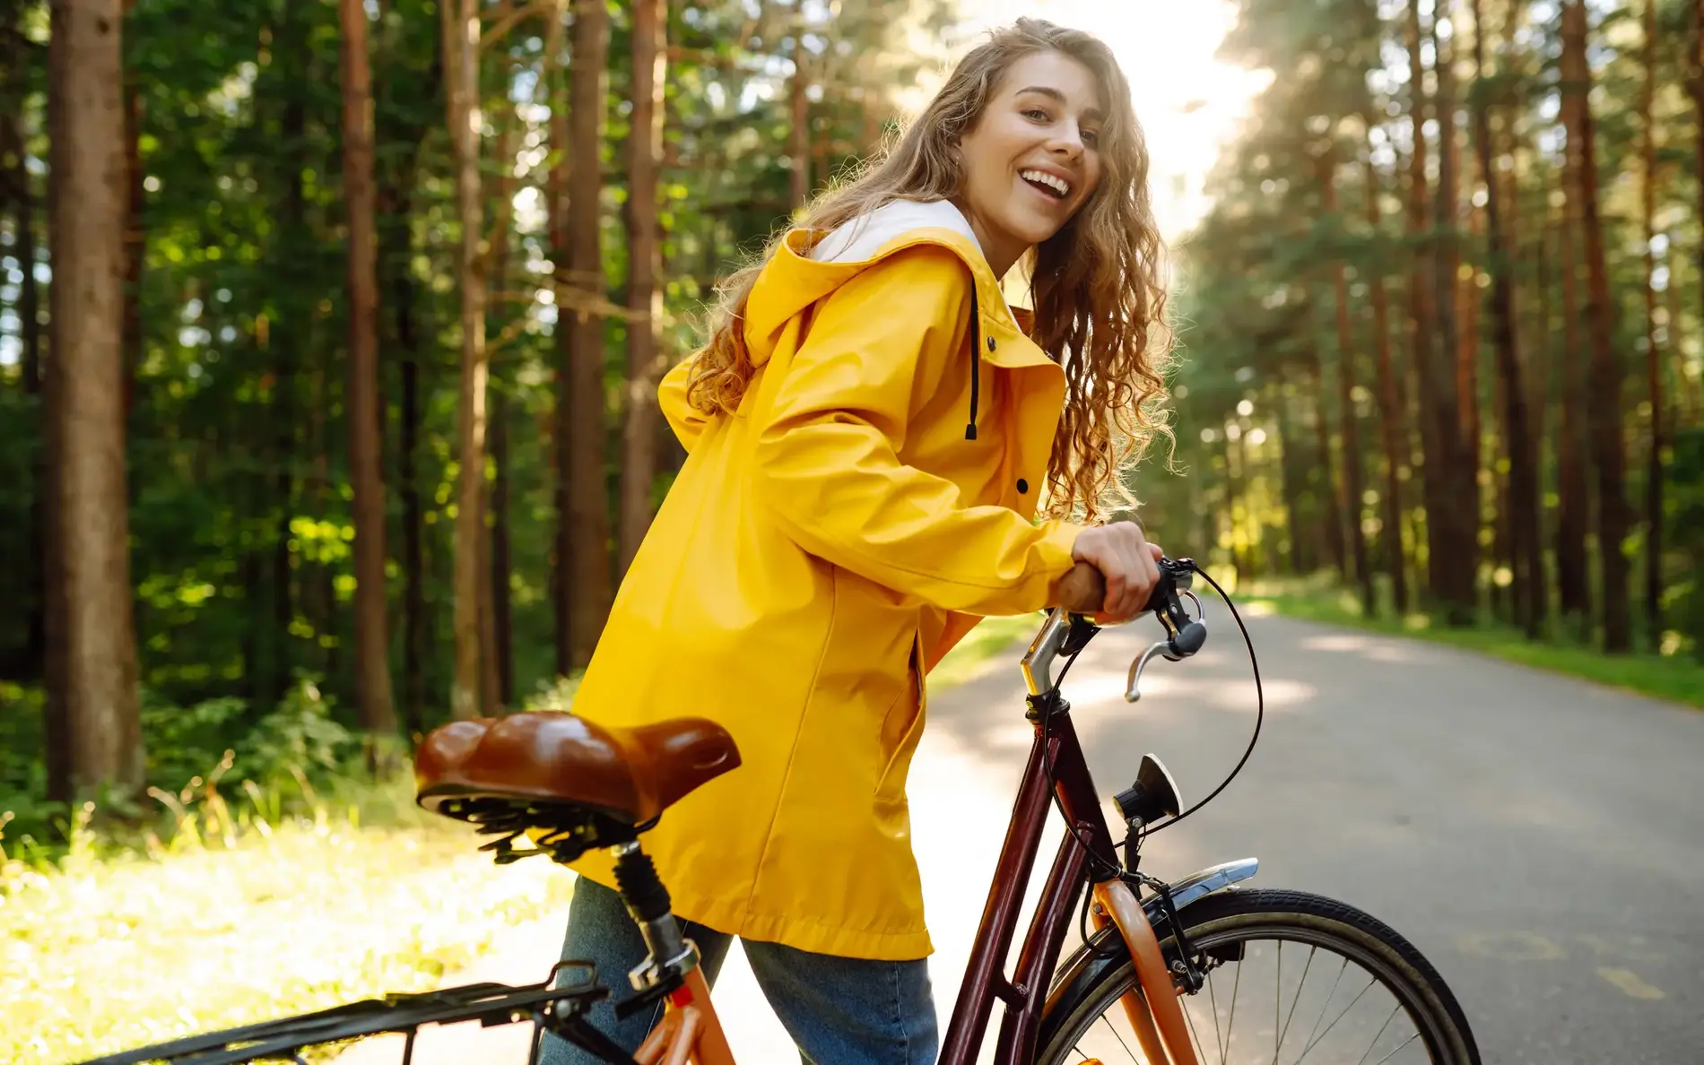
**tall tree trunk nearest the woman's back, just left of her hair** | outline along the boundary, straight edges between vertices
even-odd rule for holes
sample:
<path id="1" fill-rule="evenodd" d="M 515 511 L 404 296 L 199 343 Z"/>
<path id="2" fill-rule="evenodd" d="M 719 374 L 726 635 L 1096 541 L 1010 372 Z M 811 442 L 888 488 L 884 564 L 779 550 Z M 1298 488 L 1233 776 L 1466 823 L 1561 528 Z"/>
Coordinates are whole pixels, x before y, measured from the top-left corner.
<path id="1" fill-rule="evenodd" d="M 632 128 L 627 135 L 627 402 L 622 424 L 620 571 L 651 525 L 656 477 L 658 332 L 663 322 L 663 240 L 656 186 L 663 165 L 663 77 L 668 5 L 637 0 L 632 29 Z"/>

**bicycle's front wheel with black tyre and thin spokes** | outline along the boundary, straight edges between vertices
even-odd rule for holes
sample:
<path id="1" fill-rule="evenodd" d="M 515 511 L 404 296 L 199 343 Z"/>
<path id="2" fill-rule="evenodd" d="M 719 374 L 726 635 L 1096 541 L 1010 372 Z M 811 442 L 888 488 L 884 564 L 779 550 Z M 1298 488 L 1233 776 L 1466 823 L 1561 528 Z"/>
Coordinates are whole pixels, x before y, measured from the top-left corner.
<path id="1" fill-rule="evenodd" d="M 1201 1065 L 1479 1065 L 1438 971 L 1353 907 L 1302 891 L 1225 891 L 1181 917 L 1206 956 L 1206 982 L 1181 999 Z M 1172 939 L 1157 932 L 1176 958 Z M 1038 1065 L 1145 1062 L 1126 993 L 1140 990 L 1123 951 L 1080 970 L 1041 1019 Z"/>

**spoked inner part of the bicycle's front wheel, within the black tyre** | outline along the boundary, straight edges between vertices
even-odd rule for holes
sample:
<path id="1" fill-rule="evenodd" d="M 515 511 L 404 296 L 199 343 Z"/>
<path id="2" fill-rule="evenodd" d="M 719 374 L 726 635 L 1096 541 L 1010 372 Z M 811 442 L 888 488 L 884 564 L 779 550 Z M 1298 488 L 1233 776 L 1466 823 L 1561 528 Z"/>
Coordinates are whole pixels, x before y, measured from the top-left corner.
<path id="1" fill-rule="evenodd" d="M 1409 973 L 1341 925 L 1223 920 L 1191 930 L 1206 983 L 1179 999 L 1200 1065 L 1416 1065 L 1448 1062 Z M 1235 956 L 1241 954 L 1241 959 Z M 1114 980 L 1120 992 L 1133 975 Z M 1118 995 L 1094 1002 L 1055 1062 L 1145 1062 Z"/>

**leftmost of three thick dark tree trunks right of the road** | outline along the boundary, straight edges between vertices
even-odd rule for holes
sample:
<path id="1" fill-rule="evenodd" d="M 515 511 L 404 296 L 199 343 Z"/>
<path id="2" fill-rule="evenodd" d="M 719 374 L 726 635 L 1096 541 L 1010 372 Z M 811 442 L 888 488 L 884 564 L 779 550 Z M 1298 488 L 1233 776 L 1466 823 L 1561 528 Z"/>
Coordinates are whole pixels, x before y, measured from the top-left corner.
<path id="1" fill-rule="evenodd" d="M 1455 339 L 1455 273 L 1460 261 L 1457 242 L 1457 170 L 1455 147 L 1455 77 L 1452 48 L 1438 37 L 1438 20 L 1450 15 L 1452 0 L 1438 0 L 1431 19 L 1431 46 L 1436 56 L 1436 121 L 1438 121 L 1438 196 L 1433 201 L 1433 225 L 1438 247 L 1433 252 L 1435 295 L 1438 300 L 1438 349 L 1431 373 L 1431 417 L 1436 460 L 1426 455 L 1426 481 L 1440 486 L 1440 509 L 1426 511 L 1426 528 L 1433 562 L 1433 591 L 1445 607 L 1445 620 L 1452 625 L 1472 622 L 1477 598 L 1479 561 L 1479 470 L 1474 448 L 1467 441 L 1467 426 L 1460 402 L 1459 348 Z"/>

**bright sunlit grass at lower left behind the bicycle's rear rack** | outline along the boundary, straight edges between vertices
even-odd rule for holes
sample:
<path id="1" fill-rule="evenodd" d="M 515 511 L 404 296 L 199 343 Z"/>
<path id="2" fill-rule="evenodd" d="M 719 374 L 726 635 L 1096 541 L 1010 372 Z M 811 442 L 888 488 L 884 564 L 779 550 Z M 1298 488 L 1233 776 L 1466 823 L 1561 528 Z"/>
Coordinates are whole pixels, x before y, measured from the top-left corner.
<path id="1" fill-rule="evenodd" d="M 102 852 L 83 816 L 56 866 L 5 861 L 0 1062 L 80 1062 L 429 990 L 503 929 L 566 908 L 571 874 L 498 867 L 411 796 L 406 779 L 363 796 L 392 806 L 389 825 L 331 801 L 278 823 L 264 799 L 244 818 L 189 809 L 152 854 Z"/>

